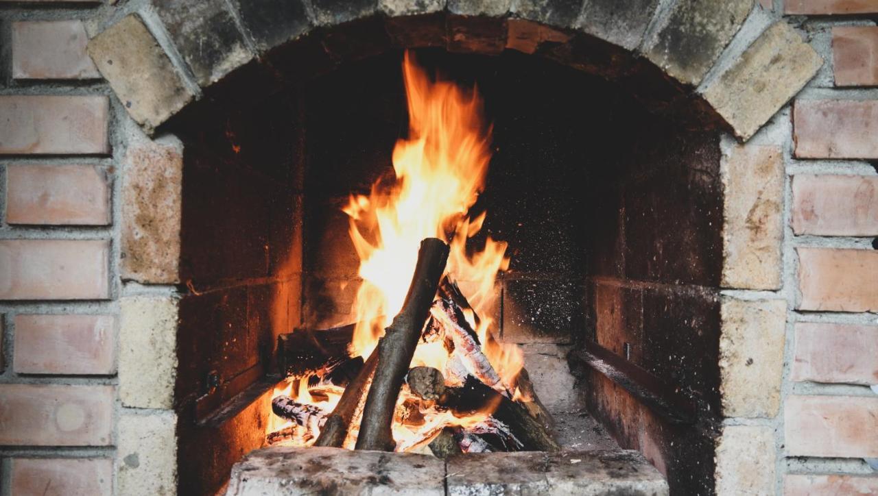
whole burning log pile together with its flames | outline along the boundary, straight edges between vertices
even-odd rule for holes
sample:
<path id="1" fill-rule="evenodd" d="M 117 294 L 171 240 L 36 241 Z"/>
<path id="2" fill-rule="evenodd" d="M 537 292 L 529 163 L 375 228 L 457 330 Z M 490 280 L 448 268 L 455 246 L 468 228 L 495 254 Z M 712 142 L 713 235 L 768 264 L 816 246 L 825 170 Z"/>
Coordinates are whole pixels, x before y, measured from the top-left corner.
<path id="1" fill-rule="evenodd" d="M 345 209 L 363 278 L 356 324 L 349 334 L 340 328 L 299 337 L 316 344 L 320 363 L 284 366 L 291 379 L 272 401 L 283 422 L 269 426 L 267 441 L 429 446 L 442 457 L 558 450 L 522 351 L 496 340 L 486 317 L 494 280 L 509 263 L 506 244 L 487 237 L 480 250 L 467 246 L 486 216 L 470 213 L 491 157 L 481 101 L 474 91 L 431 80 L 408 53 L 403 73 L 410 128 L 393 151 L 395 180 L 352 195 Z M 474 288 L 469 298 L 455 280 Z M 344 355 L 340 336 L 349 338 Z M 281 353 L 296 339 L 287 337 Z"/>

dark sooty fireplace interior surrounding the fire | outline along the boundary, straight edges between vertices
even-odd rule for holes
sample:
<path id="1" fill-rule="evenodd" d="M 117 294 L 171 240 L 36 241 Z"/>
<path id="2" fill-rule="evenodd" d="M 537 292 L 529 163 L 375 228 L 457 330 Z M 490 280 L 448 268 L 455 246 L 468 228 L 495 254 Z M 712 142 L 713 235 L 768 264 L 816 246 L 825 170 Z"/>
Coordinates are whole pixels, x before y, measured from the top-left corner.
<path id="1" fill-rule="evenodd" d="M 468 245 L 505 242 L 509 263 L 481 313 L 522 351 L 562 448 L 637 450 L 672 492 L 712 492 L 718 131 L 552 60 L 417 57 L 484 99 L 490 164 L 470 211 L 486 216 Z M 236 90 L 262 102 L 208 96 L 169 124 L 185 150 L 181 493 L 219 491 L 277 431 L 278 387 L 306 389 L 278 382 L 327 353 L 297 337 L 356 322 L 363 281 L 342 209 L 388 176 L 406 136 L 401 60 L 350 61 L 283 89 L 248 80 Z"/>

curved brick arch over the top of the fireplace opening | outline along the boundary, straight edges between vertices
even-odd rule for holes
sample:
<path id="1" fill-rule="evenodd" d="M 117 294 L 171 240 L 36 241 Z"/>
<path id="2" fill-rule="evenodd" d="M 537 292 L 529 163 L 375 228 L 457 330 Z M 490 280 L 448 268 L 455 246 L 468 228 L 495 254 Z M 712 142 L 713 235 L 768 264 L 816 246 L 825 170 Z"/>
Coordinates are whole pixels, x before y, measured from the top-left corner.
<path id="1" fill-rule="evenodd" d="M 785 21 L 752 40 L 758 28 L 742 29 L 752 0 L 675 0 L 660 8 L 659 0 L 154 4 L 89 44 L 119 100 L 149 132 L 202 98 L 246 100 L 349 60 L 438 46 L 546 57 L 613 81 L 651 109 L 747 139 L 822 64 Z M 732 43 L 736 36 L 742 41 Z"/>

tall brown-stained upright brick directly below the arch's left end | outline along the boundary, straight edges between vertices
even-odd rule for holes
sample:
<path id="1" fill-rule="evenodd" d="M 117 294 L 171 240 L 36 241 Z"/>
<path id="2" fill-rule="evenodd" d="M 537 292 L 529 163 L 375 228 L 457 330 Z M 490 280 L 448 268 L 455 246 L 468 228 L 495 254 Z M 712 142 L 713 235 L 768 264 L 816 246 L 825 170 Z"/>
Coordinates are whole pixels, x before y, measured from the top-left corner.
<path id="1" fill-rule="evenodd" d="M 130 145 L 122 186 L 122 279 L 179 281 L 183 150 L 178 142 Z"/>

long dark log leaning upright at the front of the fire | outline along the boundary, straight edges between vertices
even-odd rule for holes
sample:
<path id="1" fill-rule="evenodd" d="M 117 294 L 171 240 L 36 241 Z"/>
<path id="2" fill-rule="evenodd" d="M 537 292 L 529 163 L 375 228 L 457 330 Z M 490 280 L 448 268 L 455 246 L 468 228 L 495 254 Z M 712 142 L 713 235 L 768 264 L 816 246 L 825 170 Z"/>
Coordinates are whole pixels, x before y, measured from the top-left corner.
<path id="1" fill-rule="evenodd" d="M 396 445 L 391 431 L 393 410 L 445 271 L 448 253 L 448 244 L 440 239 L 428 237 L 421 241 L 418 263 L 402 310 L 393 317 L 385 336 L 378 341 L 378 367 L 363 407 L 357 450 L 392 451 Z"/>

